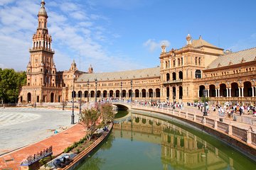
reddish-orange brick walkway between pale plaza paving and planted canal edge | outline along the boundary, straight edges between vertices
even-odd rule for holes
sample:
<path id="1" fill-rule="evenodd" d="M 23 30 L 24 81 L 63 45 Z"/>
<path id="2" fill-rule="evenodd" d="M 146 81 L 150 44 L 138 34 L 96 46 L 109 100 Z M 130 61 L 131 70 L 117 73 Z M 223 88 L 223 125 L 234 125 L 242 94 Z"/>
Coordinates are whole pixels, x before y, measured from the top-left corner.
<path id="1" fill-rule="evenodd" d="M 36 154 L 47 147 L 53 146 L 53 155 L 58 155 L 72 145 L 73 142 L 85 136 L 85 130 L 80 124 L 75 124 L 68 130 L 53 135 L 52 137 L 36 142 L 28 147 L 23 147 L 9 154 L 0 157 L 0 169 L 19 170 L 19 164 L 29 155 Z M 17 139 L 18 140 L 18 139 Z"/>

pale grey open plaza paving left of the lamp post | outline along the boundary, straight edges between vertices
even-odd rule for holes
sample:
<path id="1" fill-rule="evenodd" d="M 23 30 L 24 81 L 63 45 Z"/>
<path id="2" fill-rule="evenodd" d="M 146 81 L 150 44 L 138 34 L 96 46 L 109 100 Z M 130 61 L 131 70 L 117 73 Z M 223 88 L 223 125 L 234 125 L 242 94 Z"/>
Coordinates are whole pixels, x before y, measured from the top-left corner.
<path id="1" fill-rule="evenodd" d="M 70 115 L 71 111 L 48 108 L 0 108 L 0 156 L 44 140 L 54 130 L 70 128 Z"/>

